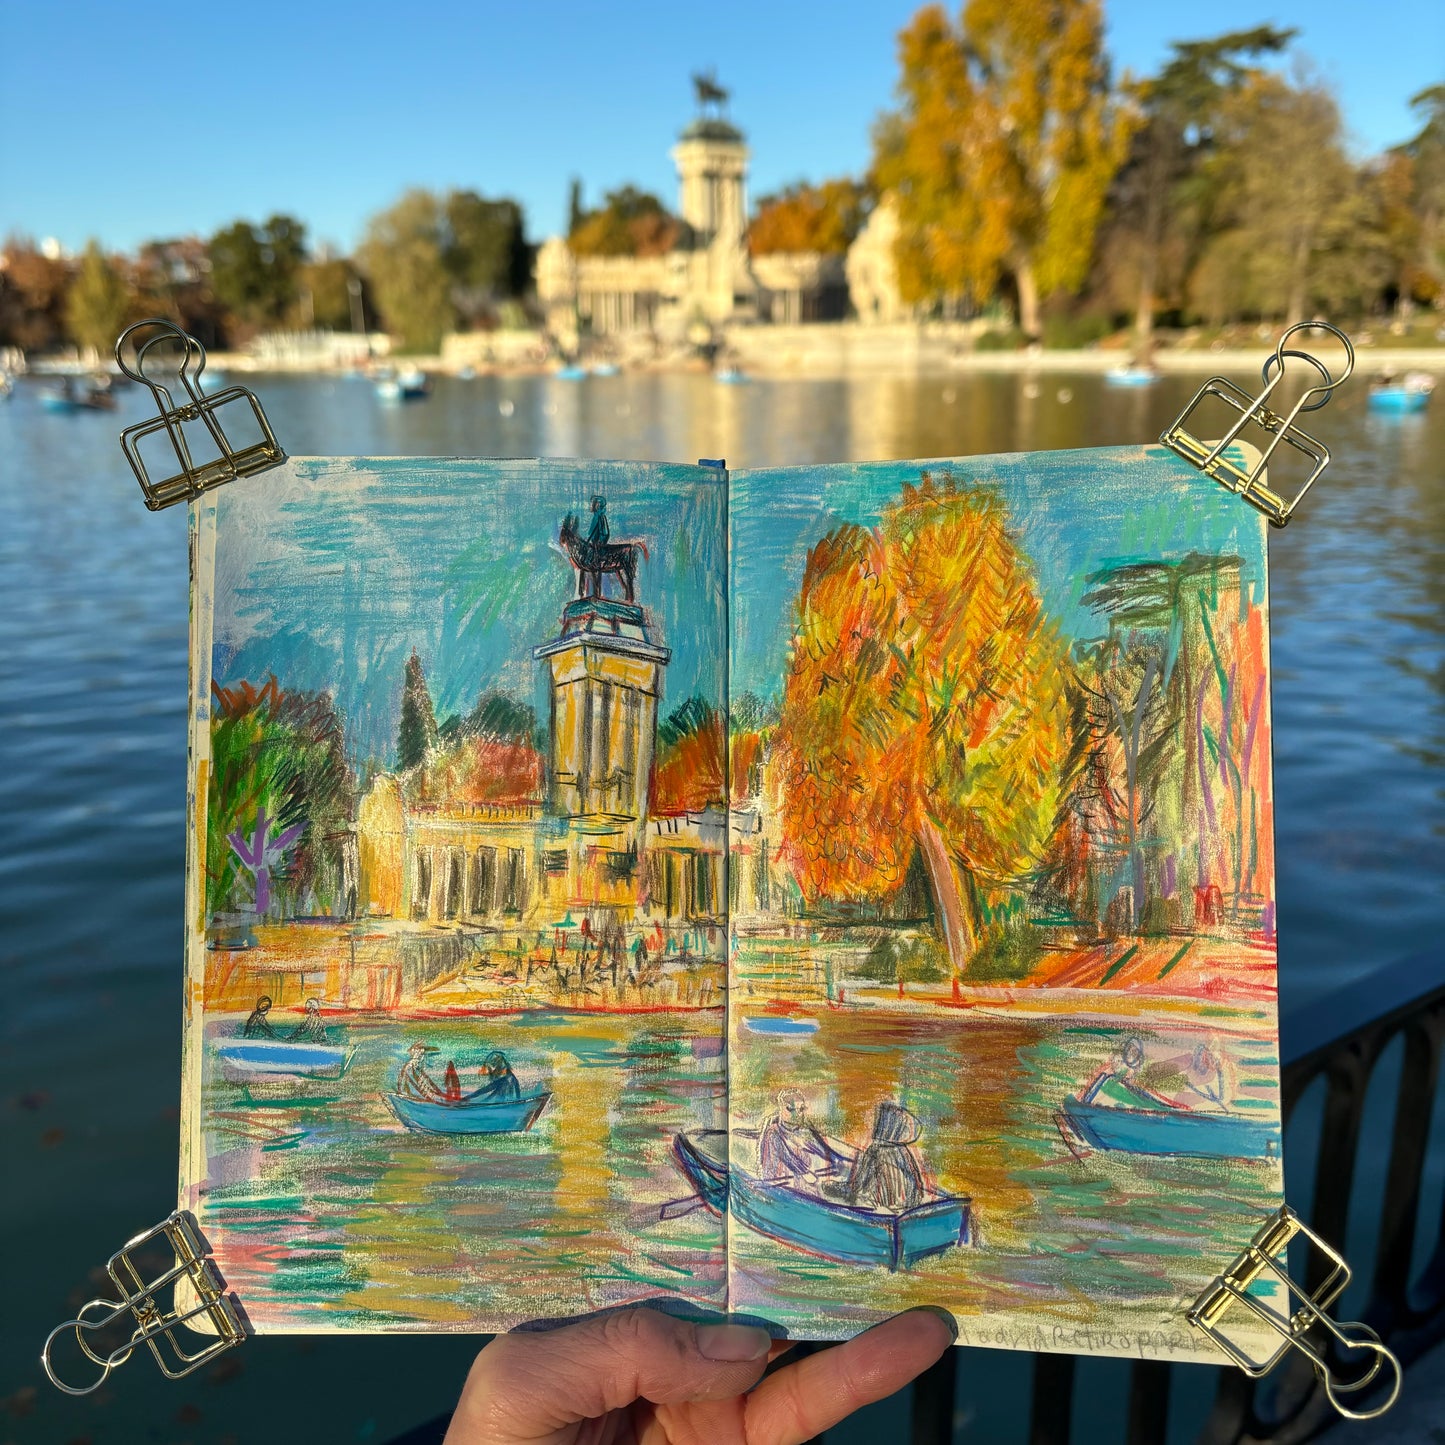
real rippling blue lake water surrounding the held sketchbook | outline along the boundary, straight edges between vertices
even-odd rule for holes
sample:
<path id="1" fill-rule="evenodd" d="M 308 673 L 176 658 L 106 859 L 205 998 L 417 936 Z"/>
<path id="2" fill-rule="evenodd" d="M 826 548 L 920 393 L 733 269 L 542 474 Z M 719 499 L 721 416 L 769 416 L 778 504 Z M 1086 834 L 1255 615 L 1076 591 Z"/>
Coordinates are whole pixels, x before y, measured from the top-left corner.
<path id="1" fill-rule="evenodd" d="M 1139 442 L 1196 380 L 514 377 L 390 409 L 361 381 L 251 384 L 292 455 L 750 467 Z M 129 390 L 118 413 L 53 416 L 30 384 L 0 402 L 0 1127 L 6 1237 L 25 1241 L 7 1250 L 7 1431 L 250 1441 L 282 1409 L 296 1438 L 383 1441 L 449 1403 L 465 1340 L 256 1341 L 218 1376 L 168 1386 L 136 1363 L 81 1402 L 33 1364 L 95 1292 L 71 1286 L 173 1204 L 186 559 L 184 513 L 144 510 L 116 444 L 147 405 Z M 1315 422 L 1334 464 L 1270 549 L 1286 1009 L 1445 923 L 1445 410 L 1377 418 L 1360 386 Z"/>

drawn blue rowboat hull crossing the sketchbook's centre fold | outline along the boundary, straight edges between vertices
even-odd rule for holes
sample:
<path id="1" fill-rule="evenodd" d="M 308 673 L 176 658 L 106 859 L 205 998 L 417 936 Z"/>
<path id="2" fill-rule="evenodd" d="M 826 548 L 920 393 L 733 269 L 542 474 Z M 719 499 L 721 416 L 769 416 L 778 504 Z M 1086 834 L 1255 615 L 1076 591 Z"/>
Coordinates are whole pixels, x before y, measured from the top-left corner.
<path id="1" fill-rule="evenodd" d="M 847 1144 L 834 1147 L 853 1153 Z M 890 1270 L 971 1241 L 972 1201 L 959 1195 L 941 1194 L 912 1209 L 867 1209 L 730 1169 L 727 1149 L 728 1134 L 721 1129 L 672 1140 L 672 1157 L 698 1199 L 714 1214 L 731 1212 L 770 1240 L 841 1264 L 881 1264 Z"/>

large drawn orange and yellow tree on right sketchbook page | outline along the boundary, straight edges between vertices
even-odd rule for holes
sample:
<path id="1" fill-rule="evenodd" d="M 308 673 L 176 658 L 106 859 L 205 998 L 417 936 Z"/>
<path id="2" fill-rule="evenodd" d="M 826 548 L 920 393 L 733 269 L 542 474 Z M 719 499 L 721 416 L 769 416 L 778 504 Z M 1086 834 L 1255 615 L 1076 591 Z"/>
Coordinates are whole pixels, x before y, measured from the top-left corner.
<path id="1" fill-rule="evenodd" d="M 988 487 L 923 474 L 809 553 L 775 736 L 805 902 L 874 902 L 918 854 L 955 975 L 1027 884 L 1074 777 L 1068 647 Z"/>

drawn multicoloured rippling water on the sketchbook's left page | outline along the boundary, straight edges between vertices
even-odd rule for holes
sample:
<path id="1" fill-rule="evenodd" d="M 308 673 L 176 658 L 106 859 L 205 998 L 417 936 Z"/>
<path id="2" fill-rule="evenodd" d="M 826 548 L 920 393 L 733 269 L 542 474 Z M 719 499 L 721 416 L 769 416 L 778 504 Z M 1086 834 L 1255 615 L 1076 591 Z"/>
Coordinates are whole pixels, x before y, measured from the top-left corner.
<path id="1" fill-rule="evenodd" d="M 708 1019 L 709 1016 L 704 1016 Z M 720 1014 L 717 1016 L 720 1019 Z M 207 1023 L 207 1040 L 238 1020 Z M 688 1191 L 675 1134 L 725 1124 L 717 1027 L 666 1016 L 538 1013 L 480 1023 L 361 1020 L 340 1079 L 227 1082 L 208 1051 L 202 1101 L 221 1267 L 267 1328 L 416 1325 L 577 1314 L 673 1295 L 717 1306 L 720 1221 L 660 1220 Z M 503 1043 L 523 1091 L 552 1091 L 523 1134 L 405 1129 L 383 1095 L 413 1042 L 462 1087 Z M 279 1095 L 279 1097 L 277 1097 Z"/>

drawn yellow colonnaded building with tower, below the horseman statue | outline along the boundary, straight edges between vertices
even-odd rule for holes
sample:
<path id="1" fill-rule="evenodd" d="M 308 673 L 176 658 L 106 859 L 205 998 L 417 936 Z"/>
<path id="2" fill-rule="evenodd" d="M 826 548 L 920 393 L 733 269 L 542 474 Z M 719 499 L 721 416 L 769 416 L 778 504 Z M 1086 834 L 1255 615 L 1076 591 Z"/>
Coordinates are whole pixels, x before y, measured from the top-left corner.
<path id="1" fill-rule="evenodd" d="M 503 929 L 597 912 L 624 922 L 721 918 L 721 809 L 650 808 L 670 652 L 653 640 L 646 610 L 574 598 L 533 657 L 548 669 L 549 696 L 536 796 L 458 801 L 425 773 L 380 775 L 357 815 L 361 912 Z"/>

